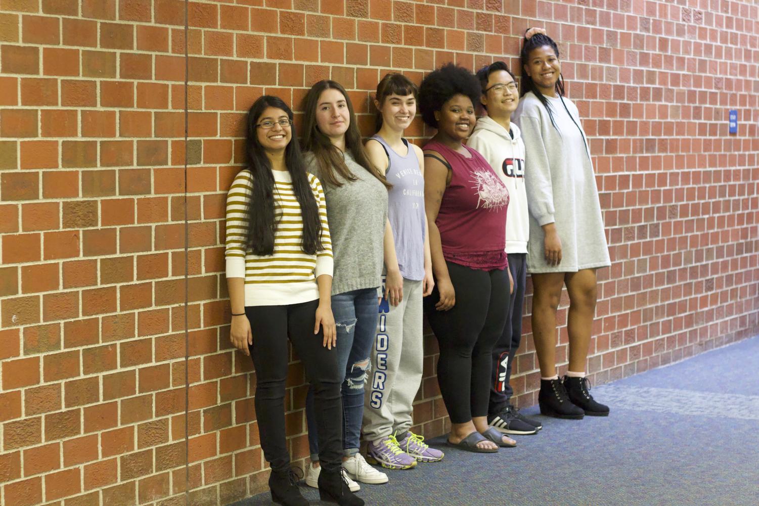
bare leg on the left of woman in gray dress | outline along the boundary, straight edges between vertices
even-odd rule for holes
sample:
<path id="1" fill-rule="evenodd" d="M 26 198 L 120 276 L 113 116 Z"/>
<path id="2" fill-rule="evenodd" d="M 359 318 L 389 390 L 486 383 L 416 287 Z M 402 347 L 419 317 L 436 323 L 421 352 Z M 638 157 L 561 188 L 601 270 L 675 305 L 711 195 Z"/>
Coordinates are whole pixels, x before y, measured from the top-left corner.
<path id="1" fill-rule="evenodd" d="M 556 376 L 556 309 L 562 296 L 564 272 L 532 275 L 532 337 L 540 376 Z"/>

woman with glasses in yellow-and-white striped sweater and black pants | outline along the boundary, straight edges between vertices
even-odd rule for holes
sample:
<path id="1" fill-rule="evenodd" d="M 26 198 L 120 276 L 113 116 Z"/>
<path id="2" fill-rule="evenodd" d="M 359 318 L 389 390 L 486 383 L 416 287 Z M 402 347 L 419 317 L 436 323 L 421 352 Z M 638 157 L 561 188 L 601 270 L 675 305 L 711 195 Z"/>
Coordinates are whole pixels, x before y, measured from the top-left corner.
<path id="1" fill-rule="evenodd" d="M 256 366 L 256 412 L 272 501 L 309 504 L 290 468 L 285 442 L 289 338 L 314 398 L 323 473 L 321 495 L 361 506 L 341 476 L 342 371 L 332 317 L 332 243 L 319 180 L 308 174 L 292 137 L 292 111 L 262 96 L 247 118 L 248 168 L 227 197 L 226 276 L 230 341 Z"/>

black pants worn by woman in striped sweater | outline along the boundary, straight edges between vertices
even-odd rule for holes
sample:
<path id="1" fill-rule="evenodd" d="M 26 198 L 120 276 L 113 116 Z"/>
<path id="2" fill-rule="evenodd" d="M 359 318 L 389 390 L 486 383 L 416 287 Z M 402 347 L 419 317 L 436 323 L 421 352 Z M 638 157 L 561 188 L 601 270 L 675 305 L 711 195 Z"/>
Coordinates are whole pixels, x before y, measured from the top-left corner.
<path id="1" fill-rule="evenodd" d="M 324 469 L 337 471 L 342 461 L 342 395 L 344 371 L 337 366 L 337 350 L 322 346 L 322 330 L 314 335 L 318 300 L 286 306 L 247 306 L 253 332 L 250 357 L 256 366 L 256 413 L 263 456 L 272 470 L 290 466 L 285 442 L 285 381 L 288 375 L 287 339 L 306 369 L 316 410 L 319 460 Z"/>

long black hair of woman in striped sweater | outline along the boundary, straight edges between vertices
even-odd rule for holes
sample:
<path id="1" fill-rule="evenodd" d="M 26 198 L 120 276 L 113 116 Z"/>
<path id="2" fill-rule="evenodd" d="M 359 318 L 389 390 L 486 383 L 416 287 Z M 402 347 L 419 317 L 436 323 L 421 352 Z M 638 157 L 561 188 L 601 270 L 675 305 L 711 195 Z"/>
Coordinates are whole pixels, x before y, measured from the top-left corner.
<path id="1" fill-rule="evenodd" d="M 277 228 L 276 212 L 274 209 L 274 175 L 266 150 L 258 141 L 256 125 L 268 107 L 282 109 L 292 121 L 292 110 L 277 96 L 264 95 L 250 106 L 247 113 L 247 137 L 245 154 L 247 168 L 253 174 L 253 194 L 247 209 L 247 247 L 256 255 L 271 255 L 274 253 L 274 233 Z M 313 196 L 313 190 L 308 182 L 306 165 L 298 146 L 298 140 L 292 135 L 285 148 L 285 165 L 292 178 L 292 189 L 298 203 L 301 204 L 303 219 L 302 247 L 305 253 L 313 255 L 323 249 L 321 236 L 322 224 L 319 217 L 319 206 Z"/>

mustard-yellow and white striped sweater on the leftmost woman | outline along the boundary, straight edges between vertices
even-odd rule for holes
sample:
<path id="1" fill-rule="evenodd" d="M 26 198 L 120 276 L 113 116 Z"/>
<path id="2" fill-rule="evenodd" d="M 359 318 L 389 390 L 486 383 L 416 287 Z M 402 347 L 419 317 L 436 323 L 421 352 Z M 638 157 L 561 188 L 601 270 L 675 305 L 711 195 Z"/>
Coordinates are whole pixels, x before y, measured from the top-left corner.
<path id="1" fill-rule="evenodd" d="M 301 205 L 293 193 L 290 173 L 272 171 L 272 174 L 277 224 L 271 255 L 254 255 L 247 250 L 247 206 L 253 192 L 253 174 L 247 169 L 240 171 L 227 194 L 226 275 L 227 278 L 245 278 L 246 306 L 279 306 L 316 300 L 319 298 L 317 277 L 332 275 L 332 241 L 319 179 L 307 174 L 319 206 L 324 249 L 309 255 L 302 247 Z"/>

